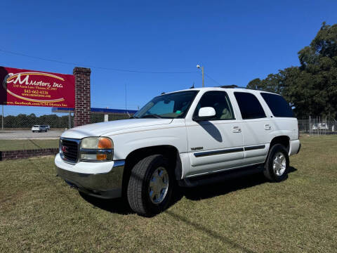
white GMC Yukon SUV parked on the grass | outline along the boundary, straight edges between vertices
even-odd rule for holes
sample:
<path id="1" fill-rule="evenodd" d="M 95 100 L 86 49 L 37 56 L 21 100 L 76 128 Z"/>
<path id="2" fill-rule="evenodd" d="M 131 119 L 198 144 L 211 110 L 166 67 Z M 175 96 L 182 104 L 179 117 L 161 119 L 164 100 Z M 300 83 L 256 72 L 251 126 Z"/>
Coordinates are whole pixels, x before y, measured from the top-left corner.
<path id="1" fill-rule="evenodd" d="M 127 197 L 140 215 L 170 202 L 173 188 L 263 171 L 286 179 L 298 153 L 298 122 L 286 100 L 248 89 L 201 88 L 164 93 L 132 119 L 65 131 L 58 176 L 95 197 Z"/>

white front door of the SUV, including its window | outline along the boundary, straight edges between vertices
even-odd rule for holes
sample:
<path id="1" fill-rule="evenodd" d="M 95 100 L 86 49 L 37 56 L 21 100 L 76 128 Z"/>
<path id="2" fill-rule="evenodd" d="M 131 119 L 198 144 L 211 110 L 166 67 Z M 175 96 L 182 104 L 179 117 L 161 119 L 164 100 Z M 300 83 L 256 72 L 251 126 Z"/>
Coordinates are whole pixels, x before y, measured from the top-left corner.
<path id="1" fill-rule="evenodd" d="M 199 100 L 199 109 L 212 107 L 216 115 L 204 121 L 186 119 L 190 169 L 187 176 L 239 167 L 244 158 L 242 124 L 234 117 L 225 91 L 207 91 Z"/>

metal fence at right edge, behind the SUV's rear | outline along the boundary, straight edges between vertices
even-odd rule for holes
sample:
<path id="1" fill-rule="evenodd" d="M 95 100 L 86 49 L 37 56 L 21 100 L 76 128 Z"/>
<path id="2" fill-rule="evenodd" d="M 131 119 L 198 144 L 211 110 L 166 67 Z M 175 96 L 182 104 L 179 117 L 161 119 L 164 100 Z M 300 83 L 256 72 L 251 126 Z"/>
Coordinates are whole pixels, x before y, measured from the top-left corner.
<path id="1" fill-rule="evenodd" d="M 298 119 L 298 130 L 300 131 L 300 134 L 337 134 L 337 121 L 336 119 L 321 119 L 319 117 Z"/>

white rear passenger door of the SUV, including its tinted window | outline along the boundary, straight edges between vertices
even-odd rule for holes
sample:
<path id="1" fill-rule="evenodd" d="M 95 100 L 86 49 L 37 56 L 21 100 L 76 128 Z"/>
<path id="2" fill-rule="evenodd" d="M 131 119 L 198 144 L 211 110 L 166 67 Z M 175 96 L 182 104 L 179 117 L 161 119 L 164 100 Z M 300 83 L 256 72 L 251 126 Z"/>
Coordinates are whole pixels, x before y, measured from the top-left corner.
<path id="1" fill-rule="evenodd" d="M 234 96 L 242 115 L 242 131 L 244 133 L 243 165 L 264 162 L 275 125 L 267 117 L 267 113 L 263 110 L 255 94 L 234 91 Z"/>

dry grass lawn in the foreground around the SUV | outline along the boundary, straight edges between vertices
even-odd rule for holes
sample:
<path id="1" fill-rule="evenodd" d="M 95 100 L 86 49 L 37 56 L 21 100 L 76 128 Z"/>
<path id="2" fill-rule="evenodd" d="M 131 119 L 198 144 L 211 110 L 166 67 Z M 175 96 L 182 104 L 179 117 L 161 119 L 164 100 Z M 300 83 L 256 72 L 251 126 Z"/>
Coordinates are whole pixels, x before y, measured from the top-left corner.
<path id="1" fill-rule="evenodd" d="M 286 181 L 183 190 L 150 219 L 82 197 L 53 157 L 0 162 L 0 252 L 336 252 L 337 136 L 301 142 Z"/>

